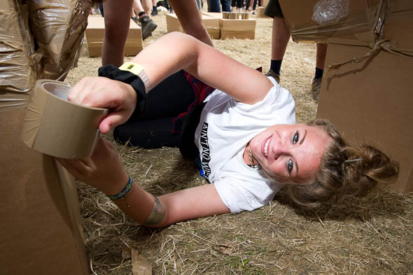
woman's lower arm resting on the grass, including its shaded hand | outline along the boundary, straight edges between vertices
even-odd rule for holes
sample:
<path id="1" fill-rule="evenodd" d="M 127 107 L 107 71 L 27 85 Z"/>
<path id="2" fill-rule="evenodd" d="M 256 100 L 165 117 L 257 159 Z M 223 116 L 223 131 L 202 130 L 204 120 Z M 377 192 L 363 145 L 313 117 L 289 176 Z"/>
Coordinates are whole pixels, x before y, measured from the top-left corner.
<path id="1" fill-rule="evenodd" d="M 100 138 L 91 157 L 84 160 L 57 159 L 73 176 L 106 195 L 116 195 L 128 183 L 118 153 Z M 203 185 L 154 197 L 134 183 L 130 192 L 113 202 L 127 215 L 147 227 L 163 227 L 183 220 L 230 213 L 214 185 Z"/>

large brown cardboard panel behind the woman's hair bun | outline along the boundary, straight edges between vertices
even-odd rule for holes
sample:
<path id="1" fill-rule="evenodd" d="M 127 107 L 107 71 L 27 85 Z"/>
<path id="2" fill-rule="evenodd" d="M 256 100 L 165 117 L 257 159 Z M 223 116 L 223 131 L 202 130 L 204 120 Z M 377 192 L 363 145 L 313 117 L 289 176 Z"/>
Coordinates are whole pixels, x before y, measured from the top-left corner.
<path id="1" fill-rule="evenodd" d="M 325 64 L 362 57 L 370 48 L 329 44 Z M 413 191 L 413 57 L 384 50 L 363 62 L 324 72 L 317 117 L 346 139 L 384 150 L 400 163 L 400 191 Z"/>

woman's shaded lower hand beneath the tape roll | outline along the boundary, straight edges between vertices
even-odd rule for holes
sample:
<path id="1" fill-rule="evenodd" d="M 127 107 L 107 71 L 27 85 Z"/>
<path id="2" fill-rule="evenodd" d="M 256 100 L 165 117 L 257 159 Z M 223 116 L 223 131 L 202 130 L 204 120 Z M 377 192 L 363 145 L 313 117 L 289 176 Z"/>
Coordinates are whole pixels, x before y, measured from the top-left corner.
<path id="1" fill-rule="evenodd" d="M 78 180 L 101 190 L 106 195 L 116 195 L 123 190 L 129 177 L 123 171 L 118 153 L 109 141 L 99 137 L 91 157 L 83 160 L 56 158 Z"/>

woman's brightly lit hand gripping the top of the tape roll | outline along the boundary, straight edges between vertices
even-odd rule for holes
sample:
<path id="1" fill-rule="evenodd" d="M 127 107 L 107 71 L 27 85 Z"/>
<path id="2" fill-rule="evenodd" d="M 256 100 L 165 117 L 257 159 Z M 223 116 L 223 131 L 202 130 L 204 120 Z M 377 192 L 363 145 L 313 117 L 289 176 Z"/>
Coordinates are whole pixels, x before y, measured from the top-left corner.
<path id="1" fill-rule="evenodd" d="M 109 108 L 109 115 L 99 124 L 103 134 L 125 123 L 137 105 L 137 93 L 131 85 L 98 76 L 82 78 L 71 88 L 68 99 L 83 106 Z"/>

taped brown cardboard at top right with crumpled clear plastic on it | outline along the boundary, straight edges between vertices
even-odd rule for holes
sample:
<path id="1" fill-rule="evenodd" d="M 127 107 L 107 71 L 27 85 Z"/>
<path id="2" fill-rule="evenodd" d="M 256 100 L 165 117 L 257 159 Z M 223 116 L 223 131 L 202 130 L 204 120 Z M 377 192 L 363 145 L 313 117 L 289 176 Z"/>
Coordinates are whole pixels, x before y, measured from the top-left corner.
<path id="1" fill-rule="evenodd" d="M 381 2 L 383 1 L 349 0 L 349 15 L 339 20 L 339 22 L 325 25 L 319 25 L 311 19 L 314 13 L 314 5 L 318 1 L 279 1 L 293 41 L 374 45 L 374 28 L 377 25 Z M 297 6 L 300 6 L 300 8 L 297 8 Z M 330 38 L 335 38 L 335 40 L 329 40 Z"/>

